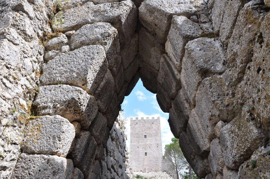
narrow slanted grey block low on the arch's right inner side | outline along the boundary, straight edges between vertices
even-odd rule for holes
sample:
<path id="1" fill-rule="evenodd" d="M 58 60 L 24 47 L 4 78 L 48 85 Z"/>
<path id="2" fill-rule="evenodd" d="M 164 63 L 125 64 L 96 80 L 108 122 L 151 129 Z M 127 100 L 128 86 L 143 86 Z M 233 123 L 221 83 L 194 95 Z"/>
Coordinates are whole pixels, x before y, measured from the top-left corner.
<path id="1" fill-rule="evenodd" d="M 199 119 L 199 116 L 195 109 L 191 111 L 190 118 L 188 120 L 188 126 L 191 129 L 191 133 L 200 146 L 202 152 L 210 151 L 210 142 L 211 140 L 207 138 L 203 130 L 203 125 Z"/>

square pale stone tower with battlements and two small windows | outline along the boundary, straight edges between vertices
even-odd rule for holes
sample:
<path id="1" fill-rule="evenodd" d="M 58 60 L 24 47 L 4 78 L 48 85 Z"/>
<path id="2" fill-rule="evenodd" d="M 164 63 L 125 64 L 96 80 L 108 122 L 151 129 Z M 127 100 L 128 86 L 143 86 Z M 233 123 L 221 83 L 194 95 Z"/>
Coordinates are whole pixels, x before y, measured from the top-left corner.
<path id="1" fill-rule="evenodd" d="M 159 117 L 130 119 L 130 166 L 133 171 L 162 171 Z"/>

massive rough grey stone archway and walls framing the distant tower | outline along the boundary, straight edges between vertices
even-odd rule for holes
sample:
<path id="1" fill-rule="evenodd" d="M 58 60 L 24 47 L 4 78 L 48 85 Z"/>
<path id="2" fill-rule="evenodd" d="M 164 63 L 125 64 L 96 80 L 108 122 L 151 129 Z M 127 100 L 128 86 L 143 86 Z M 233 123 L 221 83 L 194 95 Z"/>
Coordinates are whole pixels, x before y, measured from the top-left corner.
<path id="1" fill-rule="evenodd" d="M 268 0 L 0 6 L 0 179 L 128 178 L 139 78 L 199 177 L 270 177 Z"/>

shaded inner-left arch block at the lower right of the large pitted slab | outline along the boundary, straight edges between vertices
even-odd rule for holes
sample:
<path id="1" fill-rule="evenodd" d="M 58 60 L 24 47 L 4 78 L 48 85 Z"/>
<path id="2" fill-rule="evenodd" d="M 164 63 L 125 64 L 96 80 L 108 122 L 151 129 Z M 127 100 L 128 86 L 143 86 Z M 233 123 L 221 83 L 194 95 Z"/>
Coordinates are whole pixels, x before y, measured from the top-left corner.
<path id="1" fill-rule="evenodd" d="M 113 76 L 110 70 L 107 70 L 101 82 L 99 83 L 96 91 L 93 94 L 96 98 L 97 106 L 100 112 L 106 111 L 110 103 L 110 100 L 112 99 L 112 96 L 113 96 L 113 92 L 114 92 L 113 87 L 114 87 Z"/>

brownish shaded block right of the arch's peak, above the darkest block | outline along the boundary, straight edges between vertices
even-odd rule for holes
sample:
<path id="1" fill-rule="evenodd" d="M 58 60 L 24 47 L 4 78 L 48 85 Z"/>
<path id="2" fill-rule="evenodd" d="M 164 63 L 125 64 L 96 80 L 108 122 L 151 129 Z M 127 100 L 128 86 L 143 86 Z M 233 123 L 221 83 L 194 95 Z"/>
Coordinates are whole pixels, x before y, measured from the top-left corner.
<path id="1" fill-rule="evenodd" d="M 152 68 L 159 70 L 161 56 L 165 53 L 164 45 L 160 44 L 156 37 L 145 27 L 139 30 L 140 60 L 150 64 Z"/>

